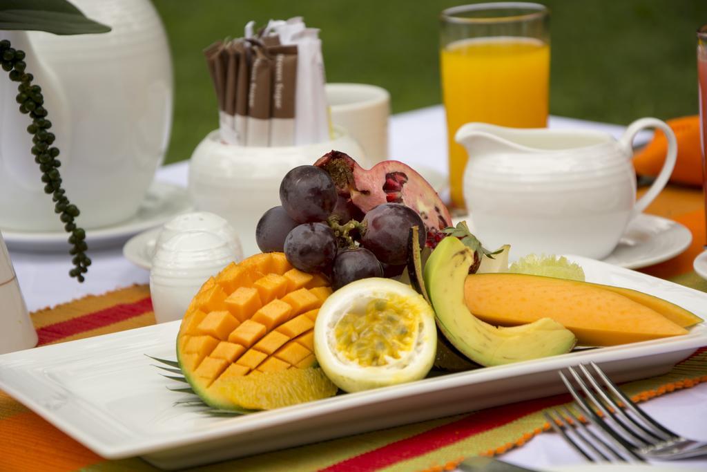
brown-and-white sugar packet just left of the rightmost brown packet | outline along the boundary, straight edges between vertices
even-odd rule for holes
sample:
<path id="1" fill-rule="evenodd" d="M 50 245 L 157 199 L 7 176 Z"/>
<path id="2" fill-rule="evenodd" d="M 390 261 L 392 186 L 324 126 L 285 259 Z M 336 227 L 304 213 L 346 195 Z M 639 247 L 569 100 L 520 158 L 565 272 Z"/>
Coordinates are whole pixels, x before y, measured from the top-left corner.
<path id="1" fill-rule="evenodd" d="M 272 60 L 264 47 L 252 43 L 253 63 L 248 84 L 248 146 L 269 146 L 270 101 L 272 97 Z"/>

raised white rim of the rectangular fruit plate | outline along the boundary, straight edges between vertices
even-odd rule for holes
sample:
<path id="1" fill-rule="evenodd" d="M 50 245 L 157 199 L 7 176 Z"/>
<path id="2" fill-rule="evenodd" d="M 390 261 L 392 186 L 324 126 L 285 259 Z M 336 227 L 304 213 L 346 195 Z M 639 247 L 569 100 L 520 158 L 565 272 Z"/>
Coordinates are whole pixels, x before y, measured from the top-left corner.
<path id="1" fill-rule="evenodd" d="M 672 282 L 658 279 L 657 277 L 644 275 L 640 272 L 633 272 L 631 270 L 612 266 L 600 261 L 576 256 L 568 257 L 571 257 L 573 260 L 590 267 L 594 270 L 593 273 L 597 273 L 597 270 L 605 270 L 607 271 L 607 275 L 610 275 L 610 273 L 613 272 L 614 275 L 619 275 L 620 277 L 629 277 L 631 280 L 641 280 L 641 283 L 645 283 L 645 287 L 652 287 L 652 284 L 658 284 L 659 286 L 662 285 L 662 289 L 665 291 L 672 291 L 674 294 L 680 294 L 680 292 L 682 292 L 684 297 L 687 297 L 688 295 L 690 297 L 697 297 L 700 303 L 707 301 L 707 294 L 690 289 L 689 287 L 682 287 Z M 704 304 L 704 306 L 707 306 L 707 304 Z M 704 310 L 697 314 L 705 317 L 707 312 L 703 311 Z M 79 355 L 86 356 L 86 352 L 81 353 L 81 350 L 86 346 L 100 346 L 108 340 L 123 340 L 124 338 L 131 338 L 139 335 L 152 335 L 153 333 L 159 333 L 162 330 L 168 330 L 170 333 L 176 333 L 179 323 L 179 321 L 174 321 L 171 323 L 164 323 L 162 325 L 148 326 L 146 328 L 127 330 L 100 337 L 86 338 L 69 343 L 48 345 L 38 347 L 33 350 L 25 350 L 2 355 L 0 356 L 0 388 L 3 388 L 11 396 L 17 398 L 18 401 L 21 401 L 27 405 L 28 408 L 35 411 L 35 413 L 42 416 L 42 418 L 45 418 L 45 420 L 52 422 L 52 424 L 59 427 L 60 430 L 66 432 L 66 434 L 74 437 L 74 439 L 78 440 L 78 442 L 85 444 L 89 449 L 92 449 L 107 459 L 121 459 L 135 455 L 152 454 L 165 451 L 165 449 L 171 450 L 178 447 L 187 446 L 189 444 L 200 444 L 209 440 L 230 437 L 233 434 L 246 434 L 247 432 L 258 430 L 262 427 L 281 425 L 285 422 L 293 422 L 303 418 L 308 418 L 311 415 L 336 413 L 337 410 L 341 410 L 341 408 L 371 405 L 382 401 L 396 400 L 412 395 L 421 395 L 431 391 L 440 391 L 440 389 L 445 388 L 456 388 L 459 386 L 468 386 L 469 384 L 483 384 L 486 381 L 498 379 L 499 377 L 548 372 L 549 370 L 557 370 L 568 365 L 575 365 L 578 362 L 594 361 L 602 363 L 621 359 L 631 359 L 632 357 L 645 357 L 648 355 L 659 358 L 660 356 L 655 355 L 659 353 L 693 350 L 697 347 L 707 345 L 707 326 L 705 326 L 705 323 L 701 323 L 699 326 L 696 326 L 696 328 L 691 330 L 691 333 L 676 338 L 664 338 L 660 340 L 645 341 L 642 343 L 632 343 L 629 345 L 604 347 L 597 350 L 573 352 L 566 355 L 559 355 L 545 359 L 534 359 L 527 362 L 519 362 L 517 364 L 487 367 L 474 371 L 448 374 L 445 376 L 438 376 L 431 379 L 412 382 L 410 384 L 380 388 L 373 391 L 349 393 L 343 396 L 327 398 L 325 400 L 312 403 L 294 405 L 292 407 L 257 413 L 255 415 L 247 415 L 245 417 L 236 418 L 232 422 L 222 423 L 218 427 L 214 427 L 214 429 L 208 431 L 202 430 L 195 432 L 181 432 L 174 435 L 153 438 L 147 441 L 144 438 L 140 438 L 139 444 L 131 444 L 130 442 L 125 444 L 105 444 L 100 442 L 90 434 L 90 430 L 86 430 L 72 424 L 71 418 L 64 418 L 62 415 L 52 411 L 51 408 L 47 408 L 47 405 L 41 405 L 38 403 L 36 398 L 38 395 L 37 392 L 23 391 L 22 388 L 17 388 L 16 385 L 8 383 L 7 381 L 8 376 L 11 376 L 11 374 L 29 376 L 28 372 L 23 372 L 23 369 L 8 366 L 8 364 L 11 364 L 12 362 L 21 362 L 23 365 L 27 366 L 27 370 L 30 368 L 42 369 L 42 359 L 55 359 L 62 352 L 79 352 Z M 141 350 L 140 353 L 144 354 L 148 352 Z M 35 364 L 32 364 L 32 362 L 35 362 Z M 37 364 L 37 362 L 39 362 L 39 364 Z M 83 401 L 78 401 L 78 403 L 82 402 Z M 343 405 L 341 403 L 343 403 Z M 94 407 L 94 409 L 96 408 Z M 60 411 L 61 410 L 59 410 L 59 412 Z M 102 418 L 96 418 L 96 427 L 105 427 L 105 424 L 102 425 L 100 421 L 98 421 L 100 419 Z M 113 425 L 113 427 L 115 428 L 115 425 Z M 122 425 L 118 425 L 118 427 L 122 427 L 124 429 L 124 426 Z M 136 437 L 137 436 L 138 434 L 136 434 Z"/>

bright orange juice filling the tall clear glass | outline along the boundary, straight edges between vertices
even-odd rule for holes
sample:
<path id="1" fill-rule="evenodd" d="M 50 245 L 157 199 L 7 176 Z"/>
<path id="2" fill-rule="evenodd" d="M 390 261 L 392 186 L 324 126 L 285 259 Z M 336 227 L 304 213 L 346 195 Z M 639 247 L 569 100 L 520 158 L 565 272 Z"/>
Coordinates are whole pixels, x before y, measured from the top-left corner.
<path id="1" fill-rule="evenodd" d="M 467 153 L 454 141 L 464 123 L 547 126 L 550 47 L 531 38 L 475 38 L 441 52 L 452 204 L 463 208 Z"/>

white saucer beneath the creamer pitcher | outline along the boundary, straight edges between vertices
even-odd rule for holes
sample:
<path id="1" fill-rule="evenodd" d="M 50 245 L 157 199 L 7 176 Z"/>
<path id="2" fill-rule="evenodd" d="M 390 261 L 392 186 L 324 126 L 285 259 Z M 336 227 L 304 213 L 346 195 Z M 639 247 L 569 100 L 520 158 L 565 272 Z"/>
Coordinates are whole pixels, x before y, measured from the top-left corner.
<path id="1" fill-rule="evenodd" d="M 452 221 L 457 224 L 463 219 L 457 217 Z M 603 261 L 626 269 L 638 269 L 674 258 L 691 242 L 692 233 L 682 224 L 643 213 L 631 221 L 614 252 Z"/>

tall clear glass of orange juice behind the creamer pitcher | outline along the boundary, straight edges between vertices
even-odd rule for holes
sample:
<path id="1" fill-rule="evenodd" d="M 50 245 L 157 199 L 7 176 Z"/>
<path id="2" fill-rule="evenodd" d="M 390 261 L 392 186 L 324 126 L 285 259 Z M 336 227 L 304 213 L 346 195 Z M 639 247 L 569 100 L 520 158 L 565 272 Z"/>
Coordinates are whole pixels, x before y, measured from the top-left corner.
<path id="1" fill-rule="evenodd" d="M 520 2 L 472 4 L 447 8 L 440 20 L 450 190 L 452 205 L 463 208 L 467 153 L 454 140 L 461 125 L 547 126 L 549 10 Z"/>

